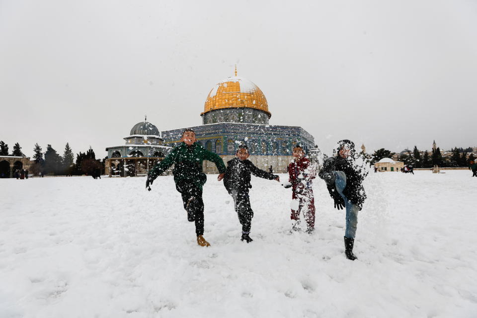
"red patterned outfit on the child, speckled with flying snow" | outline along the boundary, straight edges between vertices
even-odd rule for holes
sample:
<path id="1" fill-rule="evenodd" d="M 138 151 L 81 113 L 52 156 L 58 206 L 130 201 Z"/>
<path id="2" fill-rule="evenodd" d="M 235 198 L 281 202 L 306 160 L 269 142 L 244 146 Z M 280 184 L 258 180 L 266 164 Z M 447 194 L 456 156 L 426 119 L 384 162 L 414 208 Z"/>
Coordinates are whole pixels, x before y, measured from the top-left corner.
<path id="1" fill-rule="evenodd" d="M 300 220 L 300 212 L 303 211 L 308 229 L 315 227 L 315 198 L 313 196 L 312 180 L 316 177 L 310 160 L 303 157 L 295 159 L 288 165 L 289 182 L 292 184 L 292 199 L 298 199 L 298 210 L 292 209 L 291 219 Z"/>

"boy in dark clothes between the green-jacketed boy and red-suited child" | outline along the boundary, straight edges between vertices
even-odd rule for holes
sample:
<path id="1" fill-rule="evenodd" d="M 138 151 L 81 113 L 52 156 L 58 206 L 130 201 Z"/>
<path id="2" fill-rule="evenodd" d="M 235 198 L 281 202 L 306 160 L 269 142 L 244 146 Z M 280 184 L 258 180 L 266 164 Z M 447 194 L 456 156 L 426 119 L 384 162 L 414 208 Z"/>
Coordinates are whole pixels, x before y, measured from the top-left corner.
<path id="1" fill-rule="evenodd" d="M 227 171 L 224 176 L 224 185 L 229 194 L 234 199 L 235 211 L 239 216 L 242 225 L 242 238 L 247 243 L 251 242 L 250 227 L 253 218 L 253 211 L 250 207 L 250 198 L 248 189 L 252 187 L 250 184 L 250 173 L 254 176 L 280 181 L 278 175 L 263 171 L 256 166 L 248 158 L 248 147 L 240 145 L 237 150 L 237 157 L 227 162 Z"/>

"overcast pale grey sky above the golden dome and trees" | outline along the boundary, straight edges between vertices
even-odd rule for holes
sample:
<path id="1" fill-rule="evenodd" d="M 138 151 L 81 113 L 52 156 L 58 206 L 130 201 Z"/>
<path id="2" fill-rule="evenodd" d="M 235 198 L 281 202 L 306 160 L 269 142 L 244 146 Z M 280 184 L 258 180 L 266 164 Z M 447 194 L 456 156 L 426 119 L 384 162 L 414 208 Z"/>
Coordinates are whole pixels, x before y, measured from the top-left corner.
<path id="1" fill-rule="evenodd" d="M 27 156 L 199 125 L 233 75 L 323 151 L 477 146 L 477 1 L 0 0 L 0 140 Z"/>

